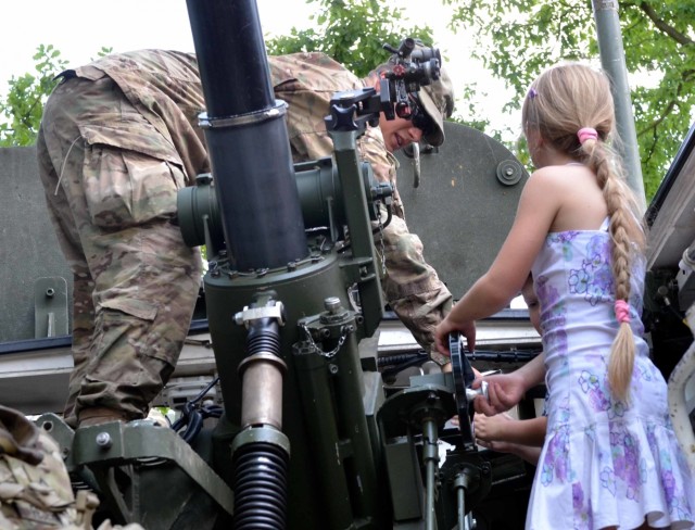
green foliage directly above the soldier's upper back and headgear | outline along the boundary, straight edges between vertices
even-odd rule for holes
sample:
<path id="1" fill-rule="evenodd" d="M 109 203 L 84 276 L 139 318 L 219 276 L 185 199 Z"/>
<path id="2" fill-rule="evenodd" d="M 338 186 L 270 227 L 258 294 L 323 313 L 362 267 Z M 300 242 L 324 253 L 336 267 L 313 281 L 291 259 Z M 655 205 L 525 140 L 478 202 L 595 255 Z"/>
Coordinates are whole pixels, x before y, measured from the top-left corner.
<path id="1" fill-rule="evenodd" d="M 282 55 L 300 51 L 320 51 L 361 77 L 386 62 L 382 45 L 397 47 L 404 37 L 432 41 L 432 30 L 406 26 L 403 10 L 389 8 L 383 0 L 307 0 L 318 5 L 308 29 L 292 28 L 289 36 L 268 39 L 268 53 Z"/>

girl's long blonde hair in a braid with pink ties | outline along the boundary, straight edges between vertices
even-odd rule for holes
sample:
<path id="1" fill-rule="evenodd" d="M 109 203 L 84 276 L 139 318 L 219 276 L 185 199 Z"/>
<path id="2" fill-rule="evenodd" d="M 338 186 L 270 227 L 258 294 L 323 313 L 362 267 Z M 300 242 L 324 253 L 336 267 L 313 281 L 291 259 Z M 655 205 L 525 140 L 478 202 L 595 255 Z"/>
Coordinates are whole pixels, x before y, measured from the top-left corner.
<path id="1" fill-rule="evenodd" d="M 531 86 L 521 111 L 525 132 L 531 129 L 554 149 L 590 167 L 610 218 L 611 269 L 616 301 L 630 300 L 632 263 L 644 250 L 644 230 L 632 190 L 626 184 L 622 161 L 608 140 L 615 137 L 615 111 L 610 81 L 598 70 L 565 63 L 544 72 Z M 597 138 L 580 143 L 578 131 L 590 127 Z M 619 400 L 629 399 L 634 367 L 634 336 L 627 321 L 620 323 L 610 351 L 608 383 Z"/>

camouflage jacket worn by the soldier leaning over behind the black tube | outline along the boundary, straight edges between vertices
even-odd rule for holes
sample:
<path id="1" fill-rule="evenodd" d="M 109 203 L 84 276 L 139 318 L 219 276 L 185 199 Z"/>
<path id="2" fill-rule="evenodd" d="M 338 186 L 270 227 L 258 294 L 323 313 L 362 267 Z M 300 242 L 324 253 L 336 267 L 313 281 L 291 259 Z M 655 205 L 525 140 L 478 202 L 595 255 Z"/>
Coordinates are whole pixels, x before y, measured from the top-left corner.
<path id="1" fill-rule="evenodd" d="M 323 53 L 296 53 L 268 58 L 276 98 L 288 103 L 287 125 L 294 162 L 329 156 L 332 141 L 324 117 L 336 91 L 362 88 L 365 81 Z M 79 77 L 96 79 L 108 75 L 128 100 L 164 138 L 167 160 L 179 164 L 188 185 L 200 173 L 210 172 L 210 162 L 198 114 L 204 110 L 198 62 L 194 54 L 142 50 L 109 55 L 76 68 Z M 162 142 L 151 135 L 119 131 L 117 124 L 102 135 L 128 135 L 140 142 L 138 151 L 148 153 L 148 144 Z M 383 141 L 378 127 L 368 128 L 359 138 L 363 159 L 370 162 L 378 180 L 394 186 L 397 162 Z M 121 144 L 121 143 L 117 143 Z M 162 156 L 162 146 L 150 149 Z M 387 274 L 382 279 L 387 301 L 426 349 L 432 346 L 432 331 L 451 308 L 452 296 L 437 273 L 422 257 L 421 242 L 410 235 L 403 220 L 403 207 L 394 197 L 394 219 L 383 235 Z"/>

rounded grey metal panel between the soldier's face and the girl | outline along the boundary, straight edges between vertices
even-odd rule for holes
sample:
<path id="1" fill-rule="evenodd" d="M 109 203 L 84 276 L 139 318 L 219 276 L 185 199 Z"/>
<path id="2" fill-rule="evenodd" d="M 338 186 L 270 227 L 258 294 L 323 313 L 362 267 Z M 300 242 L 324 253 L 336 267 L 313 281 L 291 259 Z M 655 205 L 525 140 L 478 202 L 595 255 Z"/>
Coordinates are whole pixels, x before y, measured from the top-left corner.
<path id="1" fill-rule="evenodd" d="M 444 130 L 446 141 L 439 151 L 420 154 L 418 188 L 413 186 L 412 159 L 397 154 L 399 191 L 425 258 L 458 299 L 502 247 L 528 173 L 508 149 L 479 130 L 454 123 L 445 123 Z M 518 171 L 518 184 L 502 184 L 498 167 Z"/>

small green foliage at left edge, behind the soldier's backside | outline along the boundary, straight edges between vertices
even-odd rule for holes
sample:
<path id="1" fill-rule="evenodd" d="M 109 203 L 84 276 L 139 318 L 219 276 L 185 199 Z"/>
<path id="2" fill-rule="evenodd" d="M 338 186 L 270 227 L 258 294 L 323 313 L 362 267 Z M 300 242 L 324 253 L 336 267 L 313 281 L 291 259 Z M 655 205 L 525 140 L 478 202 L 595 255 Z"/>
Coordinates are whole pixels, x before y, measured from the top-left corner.
<path id="1" fill-rule="evenodd" d="M 54 77 L 67 64 L 60 55 L 52 46 L 41 45 L 34 54 L 36 74 L 12 76 L 8 81 L 8 96 L 0 100 L 0 147 L 30 146 L 36 140 Z"/>

